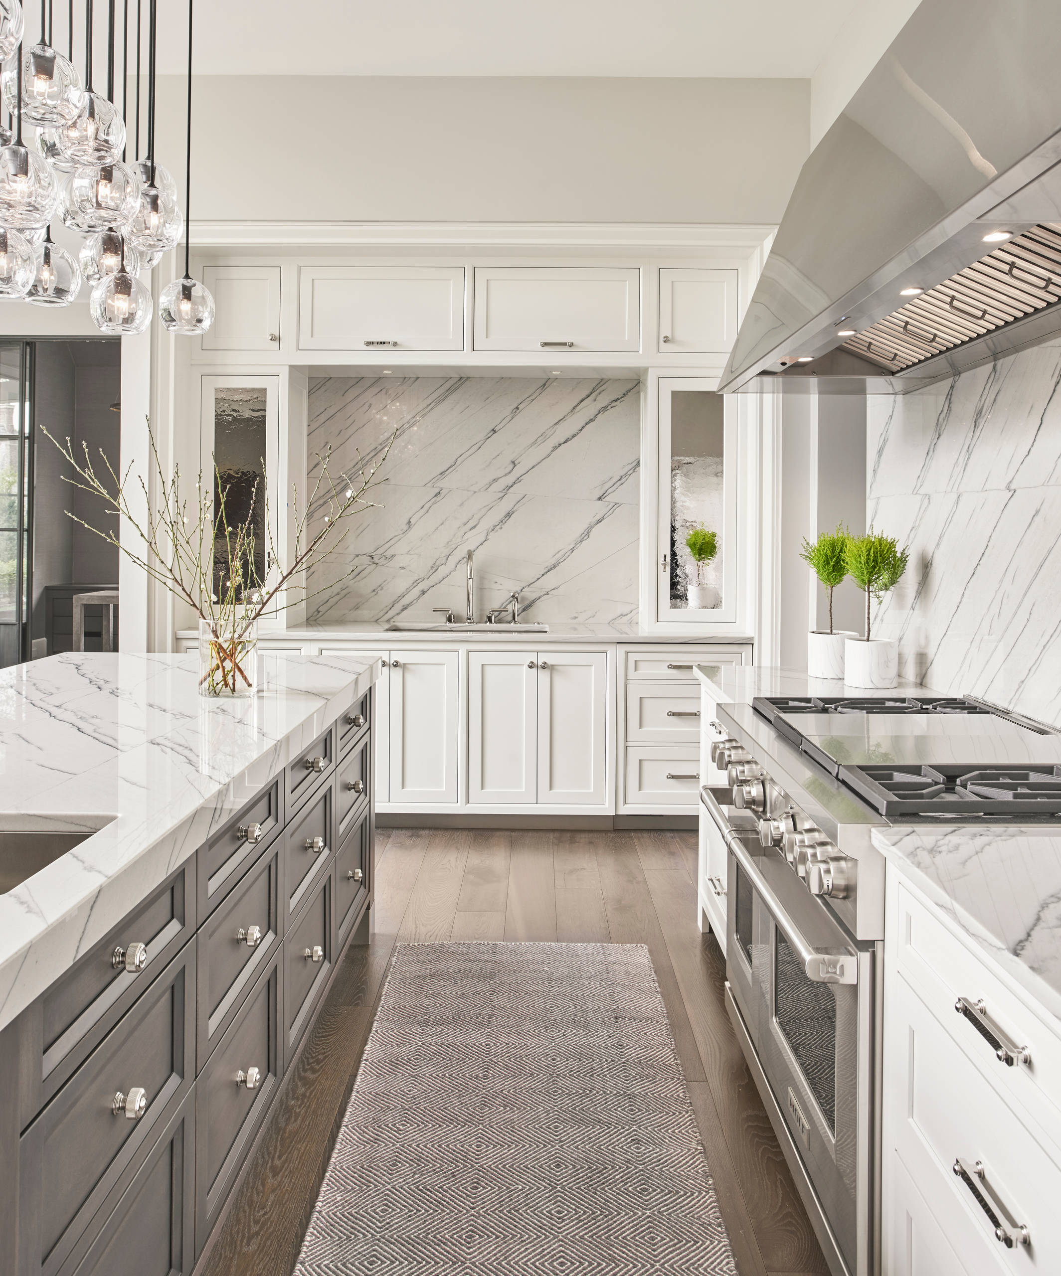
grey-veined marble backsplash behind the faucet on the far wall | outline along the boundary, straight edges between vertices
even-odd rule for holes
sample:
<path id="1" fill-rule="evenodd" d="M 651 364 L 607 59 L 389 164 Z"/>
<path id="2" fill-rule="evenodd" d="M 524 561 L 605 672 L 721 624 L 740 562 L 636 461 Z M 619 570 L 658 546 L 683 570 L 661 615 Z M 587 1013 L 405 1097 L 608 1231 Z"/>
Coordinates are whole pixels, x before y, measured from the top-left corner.
<path id="1" fill-rule="evenodd" d="M 529 620 L 636 621 L 637 380 L 310 382 L 310 486 L 326 445 L 333 472 L 356 472 L 392 435 L 374 508 L 309 581 L 312 620 L 463 618 L 474 550 L 479 619 L 518 590 Z M 312 512 L 312 531 L 323 517 Z"/>

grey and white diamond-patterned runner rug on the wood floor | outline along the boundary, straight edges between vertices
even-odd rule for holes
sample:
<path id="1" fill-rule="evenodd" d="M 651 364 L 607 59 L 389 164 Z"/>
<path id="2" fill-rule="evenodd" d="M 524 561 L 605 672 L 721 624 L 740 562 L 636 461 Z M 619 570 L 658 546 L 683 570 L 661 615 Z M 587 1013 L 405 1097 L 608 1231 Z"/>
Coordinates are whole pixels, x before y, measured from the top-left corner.
<path id="1" fill-rule="evenodd" d="M 735 1276 L 649 949 L 398 944 L 296 1276 Z"/>

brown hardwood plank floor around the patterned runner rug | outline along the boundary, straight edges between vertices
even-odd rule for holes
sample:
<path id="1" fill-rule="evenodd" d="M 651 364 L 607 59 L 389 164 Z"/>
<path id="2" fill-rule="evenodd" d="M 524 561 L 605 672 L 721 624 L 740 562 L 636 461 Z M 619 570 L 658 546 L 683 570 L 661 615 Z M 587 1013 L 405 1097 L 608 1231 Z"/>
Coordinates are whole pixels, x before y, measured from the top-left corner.
<path id="1" fill-rule="evenodd" d="M 827 1276 L 696 924 L 695 833 L 380 829 L 369 947 L 351 947 L 202 1276 L 290 1276 L 395 943 L 643 943 L 741 1276 Z"/>

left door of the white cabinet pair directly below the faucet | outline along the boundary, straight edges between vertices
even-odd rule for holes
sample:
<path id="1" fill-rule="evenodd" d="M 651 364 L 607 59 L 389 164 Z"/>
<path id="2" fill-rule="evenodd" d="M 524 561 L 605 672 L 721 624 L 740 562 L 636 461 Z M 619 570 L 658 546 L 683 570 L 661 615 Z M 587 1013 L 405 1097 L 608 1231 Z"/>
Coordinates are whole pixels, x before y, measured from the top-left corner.
<path id="1" fill-rule="evenodd" d="M 536 801 L 535 652 L 469 652 L 467 679 L 467 800 Z"/>

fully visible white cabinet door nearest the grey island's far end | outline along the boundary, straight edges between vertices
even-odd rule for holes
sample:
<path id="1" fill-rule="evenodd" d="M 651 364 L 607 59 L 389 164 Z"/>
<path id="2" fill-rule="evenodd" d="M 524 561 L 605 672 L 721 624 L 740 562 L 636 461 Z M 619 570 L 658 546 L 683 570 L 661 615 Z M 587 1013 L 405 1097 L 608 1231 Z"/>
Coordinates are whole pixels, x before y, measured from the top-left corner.
<path id="1" fill-rule="evenodd" d="M 456 804 L 460 653 L 397 651 L 389 674 L 389 800 Z"/>

